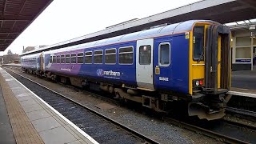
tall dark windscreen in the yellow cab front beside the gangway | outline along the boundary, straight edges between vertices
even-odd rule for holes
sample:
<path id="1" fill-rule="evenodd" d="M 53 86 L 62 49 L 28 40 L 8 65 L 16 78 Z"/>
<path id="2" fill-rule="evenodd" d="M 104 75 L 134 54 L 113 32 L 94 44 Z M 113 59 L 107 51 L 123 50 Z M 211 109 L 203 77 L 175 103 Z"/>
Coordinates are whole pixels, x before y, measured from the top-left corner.
<path id="1" fill-rule="evenodd" d="M 194 26 L 193 30 L 193 59 L 194 61 L 203 61 L 204 46 L 204 26 Z"/>

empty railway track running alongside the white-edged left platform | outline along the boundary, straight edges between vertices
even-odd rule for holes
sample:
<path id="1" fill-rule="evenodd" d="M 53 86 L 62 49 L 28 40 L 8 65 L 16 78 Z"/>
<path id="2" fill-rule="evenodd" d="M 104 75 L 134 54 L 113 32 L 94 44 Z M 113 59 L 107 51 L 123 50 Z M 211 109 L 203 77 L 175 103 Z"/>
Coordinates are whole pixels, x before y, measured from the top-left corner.
<path id="1" fill-rule="evenodd" d="M 6 71 L 99 143 L 159 143 L 38 82 Z"/>

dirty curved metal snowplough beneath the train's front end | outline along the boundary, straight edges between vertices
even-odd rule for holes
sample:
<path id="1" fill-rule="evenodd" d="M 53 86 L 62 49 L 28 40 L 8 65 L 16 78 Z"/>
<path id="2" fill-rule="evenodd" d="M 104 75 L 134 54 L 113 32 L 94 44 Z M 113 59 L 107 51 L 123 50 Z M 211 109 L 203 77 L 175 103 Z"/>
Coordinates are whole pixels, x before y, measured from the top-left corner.
<path id="1" fill-rule="evenodd" d="M 188 114 L 189 116 L 198 116 L 200 119 L 211 121 L 224 117 L 225 110 L 223 108 L 212 110 L 209 106 L 206 106 L 201 102 L 190 102 L 188 105 Z"/>

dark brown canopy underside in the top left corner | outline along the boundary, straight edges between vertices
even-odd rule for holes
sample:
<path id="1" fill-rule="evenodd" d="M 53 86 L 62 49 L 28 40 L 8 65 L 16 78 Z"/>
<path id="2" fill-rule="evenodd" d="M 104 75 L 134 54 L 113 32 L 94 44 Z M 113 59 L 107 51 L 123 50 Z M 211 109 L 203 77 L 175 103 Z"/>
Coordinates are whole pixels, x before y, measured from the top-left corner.
<path id="1" fill-rule="evenodd" d="M 53 0 L 0 0 L 0 51 L 49 6 Z"/>

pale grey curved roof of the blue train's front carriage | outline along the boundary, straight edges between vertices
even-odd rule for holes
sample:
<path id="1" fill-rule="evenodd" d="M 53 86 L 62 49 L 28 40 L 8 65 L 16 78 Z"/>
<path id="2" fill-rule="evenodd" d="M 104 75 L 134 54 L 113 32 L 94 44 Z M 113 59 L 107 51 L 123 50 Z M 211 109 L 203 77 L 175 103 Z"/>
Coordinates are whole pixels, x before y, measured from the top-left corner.
<path id="1" fill-rule="evenodd" d="M 194 24 L 197 22 L 210 22 L 210 23 L 219 24 L 218 22 L 214 22 L 210 20 L 190 20 L 186 22 L 178 22 L 178 23 L 170 24 L 167 26 L 161 26 L 154 29 L 150 29 L 150 30 L 142 30 L 135 33 L 120 35 L 113 38 L 106 38 L 106 39 L 102 39 L 94 42 L 86 42 L 80 45 L 69 46 L 69 47 L 65 47 L 57 50 L 50 50 L 50 51 L 46 51 L 45 54 L 58 53 L 66 50 L 78 50 L 78 49 L 84 49 L 84 48 L 90 48 L 90 47 L 105 46 L 105 45 L 110 45 L 110 44 L 119 43 L 119 42 L 130 42 L 137 39 L 154 38 L 154 37 L 167 35 L 167 34 L 178 34 L 178 33 L 192 30 Z"/>

